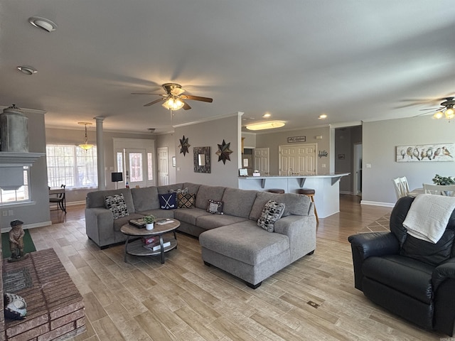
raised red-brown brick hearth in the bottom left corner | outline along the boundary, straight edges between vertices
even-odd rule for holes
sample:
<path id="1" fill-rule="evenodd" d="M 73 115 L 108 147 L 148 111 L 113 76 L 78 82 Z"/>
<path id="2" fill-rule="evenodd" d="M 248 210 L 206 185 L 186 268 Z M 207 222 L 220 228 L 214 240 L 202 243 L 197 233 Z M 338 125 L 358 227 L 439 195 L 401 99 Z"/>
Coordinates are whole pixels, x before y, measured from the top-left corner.
<path id="1" fill-rule="evenodd" d="M 1 340 L 65 340 L 85 331 L 82 296 L 53 249 L 31 252 L 28 259 L 16 263 L 4 260 L 2 265 L 0 273 L 28 268 L 32 286 L 15 292 L 26 300 L 27 316 L 0 320 Z"/>

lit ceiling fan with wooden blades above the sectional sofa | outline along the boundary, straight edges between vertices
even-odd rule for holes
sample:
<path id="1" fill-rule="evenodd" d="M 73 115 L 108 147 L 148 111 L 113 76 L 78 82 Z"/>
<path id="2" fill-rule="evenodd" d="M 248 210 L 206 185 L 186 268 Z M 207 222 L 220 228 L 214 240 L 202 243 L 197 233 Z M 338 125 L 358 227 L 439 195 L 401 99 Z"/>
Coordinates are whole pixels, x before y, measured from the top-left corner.
<path id="1" fill-rule="evenodd" d="M 183 99 L 190 99 L 193 101 L 201 102 L 213 102 L 213 99 L 208 97 L 193 96 L 192 94 L 183 94 L 186 90 L 180 84 L 177 83 L 166 83 L 162 85 L 166 94 L 157 94 L 162 98 L 155 99 L 154 101 L 144 104 L 144 107 L 149 107 L 152 104 L 163 102 L 161 105 L 166 109 L 178 110 L 183 108 L 184 110 L 191 109 L 190 105 Z M 132 92 L 132 94 L 149 94 L 144 92 Z"/>

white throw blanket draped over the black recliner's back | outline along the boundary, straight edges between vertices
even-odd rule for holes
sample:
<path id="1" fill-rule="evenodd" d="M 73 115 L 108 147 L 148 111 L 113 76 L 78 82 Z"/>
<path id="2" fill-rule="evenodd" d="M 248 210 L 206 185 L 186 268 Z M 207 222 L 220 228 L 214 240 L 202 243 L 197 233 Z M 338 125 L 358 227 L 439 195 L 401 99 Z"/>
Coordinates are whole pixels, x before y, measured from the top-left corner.
<path id="1" fill-rule="evenodd" d="M 412 237 L 436 244 L 446 230 L 455 209 L 455 197 L 417 195 L 407 212 L 403 226 Z"/>

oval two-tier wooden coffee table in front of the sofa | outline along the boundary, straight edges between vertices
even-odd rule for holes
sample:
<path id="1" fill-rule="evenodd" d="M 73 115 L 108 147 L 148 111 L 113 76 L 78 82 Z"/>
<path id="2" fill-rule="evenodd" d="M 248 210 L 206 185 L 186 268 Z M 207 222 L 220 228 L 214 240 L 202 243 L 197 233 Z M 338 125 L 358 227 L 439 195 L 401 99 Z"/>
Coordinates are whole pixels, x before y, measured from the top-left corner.
<path id="1" fill-rule="evenodd" d="M 157 219 L 160 220 L 160 219 Z M 127 254 L 133 256 L 157 256 L 161 255 L 161 264 L 164 264 L 164 253 L 171 251 L 177 247 L 176 229 L 180 226 L 180 222 L 176 219 L 171 219 L 167 224 L 159 225 L 155 222 L 154 229 L 148 230 L 145 228 L 134 227 L 131 224 L 124 224 L 120 231 L 127 235 L 125 242 L 124 261 L 127 261 Z M 173 235 L 169 232 L 173 232 Z M 166 236 L 164 235 L 166 234 Z M 142 237 L 159 237 L 160 248 L 156 251 L 144 247 Z M 140 238 L 139 238 L 140 237 Z M 137 239 L 130 242 L 130 239 Z M 171 242 L 168 247 L 163 247 L 165 242 Z"/>

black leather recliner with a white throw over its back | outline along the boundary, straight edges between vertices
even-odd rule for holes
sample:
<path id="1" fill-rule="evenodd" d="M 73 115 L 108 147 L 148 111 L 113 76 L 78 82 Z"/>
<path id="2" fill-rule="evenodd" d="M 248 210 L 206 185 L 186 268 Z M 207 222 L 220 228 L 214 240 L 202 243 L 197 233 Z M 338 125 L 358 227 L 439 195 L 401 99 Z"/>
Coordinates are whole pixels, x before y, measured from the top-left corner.
<path id="1" fill-rule="evenodd" d="M 414 197 L 402 197 L 390 232 L 348 237 L 355 288 L 374 303 L 426 330 L 454 335 L 455 210 L 437 244 L 406 233 L 403 222 Z"/>

